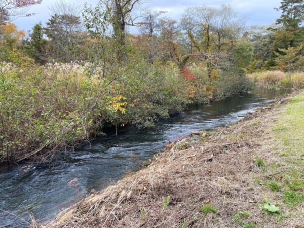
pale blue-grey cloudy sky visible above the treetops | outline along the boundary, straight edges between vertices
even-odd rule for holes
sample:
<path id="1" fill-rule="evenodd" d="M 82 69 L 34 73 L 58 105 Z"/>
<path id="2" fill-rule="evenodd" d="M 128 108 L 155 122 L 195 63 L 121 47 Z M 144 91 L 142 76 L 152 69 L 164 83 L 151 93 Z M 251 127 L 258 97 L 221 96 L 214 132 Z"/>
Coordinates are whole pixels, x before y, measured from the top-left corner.
<path id="1" fill-rule="evenodd" d="M 280 17 L 280 12 L 274 10 L 274 7 L 280 6 L 280 0 L 142 0 L 146 3 L 141 7 L 167 11 L 166 17 L 179 21 L 184 10 L 191 6 L 207 5 L 209 7 L 219 7 L 222 4 L 229 4 L 240 17 L 247 18 L 247 26 L 251 25 L 270 25 Z M 76 1 L 65 0 L 83 8 L 85 2 L 96 5 L 98 0 Z M 19 17 L 13 21 L 19 29 L 25 31 L 31 30 L 36 23 L 44 23 L 52 14 L 49 7 L 54 4 L 53 0 L 42 0 L 40 5 L 32 6 L 28 12 L 36 13 L 31 17 Z M 132 30 L 131 30 L 132 32 Z"/>

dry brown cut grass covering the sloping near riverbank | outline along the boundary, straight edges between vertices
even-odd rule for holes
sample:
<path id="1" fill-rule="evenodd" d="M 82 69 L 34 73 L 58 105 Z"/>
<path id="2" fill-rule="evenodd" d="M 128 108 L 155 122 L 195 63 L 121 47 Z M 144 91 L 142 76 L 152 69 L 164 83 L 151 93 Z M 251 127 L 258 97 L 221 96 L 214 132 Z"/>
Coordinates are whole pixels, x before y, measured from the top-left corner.
<path id="1" fill-rule="evenodd" d="M 288 100 L 172 144 L 148 167 L 33 227 L 304 227 L 303 202 L 290 207 L 280 199 L 283 190 L 267 185 L 285 178 L 272 128 Z"/>

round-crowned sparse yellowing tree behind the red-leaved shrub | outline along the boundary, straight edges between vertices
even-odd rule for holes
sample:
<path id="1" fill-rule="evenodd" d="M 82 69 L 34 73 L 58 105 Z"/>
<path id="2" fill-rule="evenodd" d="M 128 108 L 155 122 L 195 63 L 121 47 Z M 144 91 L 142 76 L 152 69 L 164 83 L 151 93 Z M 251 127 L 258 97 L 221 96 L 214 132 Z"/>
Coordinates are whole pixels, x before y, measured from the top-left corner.
<path id="1" fill-rule="evenodd" d="M 222 68 L 219 62 L 235 47 L 236 40 L 243 32 L 244 22 L 236 18 L 229 5 L 220 8 L 202 6 L 188 8 L 181 26 L 196 49 L 183 57 L 181 66 L 191 58 L 203 57 L 210 78 L 213 69 Z"/>

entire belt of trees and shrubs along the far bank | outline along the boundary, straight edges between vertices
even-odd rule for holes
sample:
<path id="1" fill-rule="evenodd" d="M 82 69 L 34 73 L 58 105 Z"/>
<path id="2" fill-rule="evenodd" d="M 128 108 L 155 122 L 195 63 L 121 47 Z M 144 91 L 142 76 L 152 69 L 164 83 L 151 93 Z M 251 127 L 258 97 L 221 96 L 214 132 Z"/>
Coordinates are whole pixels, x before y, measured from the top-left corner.
<path id="1" fill-rule="evenodd" d="M 302 55 L 296 1 L 283 1 L 277 25 L 259 31 L 227 5 L 188 8 L 180 22 L 154 11 L 137 21 L 139 5 L 103 0 L 80 14 L 57 2 L 28 37 L 8 22 L 18 6 L 0 6 L 0 161 L 49 160 L 102 134 L 105 123 L 153 126 L 188 104 L 245 91 L 246 71 L 290 69 L 284 50 Z M 128 33 L 134 25 L 139 34 Z"/>

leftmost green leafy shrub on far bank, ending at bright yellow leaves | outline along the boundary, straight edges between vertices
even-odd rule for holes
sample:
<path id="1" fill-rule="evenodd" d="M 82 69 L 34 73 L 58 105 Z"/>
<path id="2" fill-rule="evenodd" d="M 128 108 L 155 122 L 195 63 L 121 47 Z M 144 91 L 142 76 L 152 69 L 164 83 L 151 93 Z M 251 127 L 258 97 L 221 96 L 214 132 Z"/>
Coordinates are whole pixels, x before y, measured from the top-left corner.
<path id="1" fill-rule="evenodd" d="M 124 104 L 107 95 L 106 79 L 89 77 L 77 64 L 32 70 L 3 63 L 0 70 L 0 161 L 20 161 L 34 151 L 50 158 L 88 139 L 98 120 Z"/>

